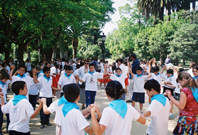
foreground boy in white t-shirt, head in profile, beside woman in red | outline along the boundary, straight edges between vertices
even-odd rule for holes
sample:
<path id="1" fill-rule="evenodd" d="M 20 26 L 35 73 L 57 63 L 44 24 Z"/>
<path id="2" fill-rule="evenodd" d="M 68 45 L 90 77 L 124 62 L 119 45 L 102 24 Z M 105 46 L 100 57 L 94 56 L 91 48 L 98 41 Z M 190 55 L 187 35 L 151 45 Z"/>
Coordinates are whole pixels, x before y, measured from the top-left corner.
<path id="1" fill-rule="evenodd" d="M 145 117 L 151 116 L 146 133 L 148 135 L 167 135 L 170 102 L 168 98 L 160 94 L 160 84 L 156 80 L 148 80 L 144 88 L 147 95 L 151 97 L 151 103 L 144 113 Z"/>

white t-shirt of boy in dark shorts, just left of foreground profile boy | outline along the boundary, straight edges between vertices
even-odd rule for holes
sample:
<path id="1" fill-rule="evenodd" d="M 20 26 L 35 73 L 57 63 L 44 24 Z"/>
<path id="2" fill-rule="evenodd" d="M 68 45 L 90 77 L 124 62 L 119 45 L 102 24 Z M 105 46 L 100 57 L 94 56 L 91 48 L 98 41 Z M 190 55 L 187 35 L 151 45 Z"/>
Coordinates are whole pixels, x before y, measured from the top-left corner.
<path id="1" fill-rule="evenodd" d="M 134 74 L 133 80 L 134 80 L 133 92 L 145 93 L 144 84 L 145 81 L 147 80 L 147 75 L 142 75 L 140 77 L 137 77 Z"/>

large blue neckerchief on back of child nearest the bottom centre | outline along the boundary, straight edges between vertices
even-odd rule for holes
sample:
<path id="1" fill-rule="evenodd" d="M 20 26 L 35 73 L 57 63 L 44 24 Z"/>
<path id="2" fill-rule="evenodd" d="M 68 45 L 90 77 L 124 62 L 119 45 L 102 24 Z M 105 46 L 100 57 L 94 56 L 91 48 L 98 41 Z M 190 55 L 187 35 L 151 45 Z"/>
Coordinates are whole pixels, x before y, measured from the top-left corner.
<path id="1" fill-rule="evenodd" d="M 127 113 L 127 103 L 121 99 L 113 100 L 108 105 L 115 110 L 123 119 Z"/>

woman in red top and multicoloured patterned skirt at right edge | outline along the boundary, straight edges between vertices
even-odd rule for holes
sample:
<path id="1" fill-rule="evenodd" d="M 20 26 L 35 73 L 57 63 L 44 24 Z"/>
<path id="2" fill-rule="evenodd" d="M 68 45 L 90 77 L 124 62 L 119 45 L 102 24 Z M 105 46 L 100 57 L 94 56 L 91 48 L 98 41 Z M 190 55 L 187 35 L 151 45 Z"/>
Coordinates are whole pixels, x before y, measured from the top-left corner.
<path id="1" fill-rule="evenodd" d="M 197 135 L 198 134 L 198 82 L 193 79 L 189 73 L 183 71 L 179 73 L 178 82 L 182 89 L 180 100 L 177 101 L 171 95 L 169 90 L 166 91 L 171 102 L 181 109 L 179 120 L 175 127 L 174 135 Z"/>

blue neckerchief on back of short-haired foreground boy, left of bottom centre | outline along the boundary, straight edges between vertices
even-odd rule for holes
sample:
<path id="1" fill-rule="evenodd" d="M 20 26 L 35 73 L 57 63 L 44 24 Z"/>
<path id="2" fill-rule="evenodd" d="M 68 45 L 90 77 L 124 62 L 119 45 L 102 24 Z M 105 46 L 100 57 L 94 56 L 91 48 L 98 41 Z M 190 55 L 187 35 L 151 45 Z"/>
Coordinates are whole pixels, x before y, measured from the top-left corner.
<path id="1" fill-rule="evenodd" d="M 76 103 L 72 103 L 72 102 L 65 102 L 62 108 L 62 112 L 64 117 L 67 115 L 67 113 L 69 111 L 71 111 L 72 109 L 79 109 L 79 107 L 77 106 Z"/>

